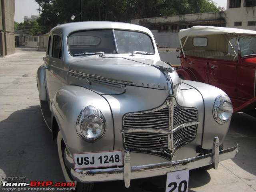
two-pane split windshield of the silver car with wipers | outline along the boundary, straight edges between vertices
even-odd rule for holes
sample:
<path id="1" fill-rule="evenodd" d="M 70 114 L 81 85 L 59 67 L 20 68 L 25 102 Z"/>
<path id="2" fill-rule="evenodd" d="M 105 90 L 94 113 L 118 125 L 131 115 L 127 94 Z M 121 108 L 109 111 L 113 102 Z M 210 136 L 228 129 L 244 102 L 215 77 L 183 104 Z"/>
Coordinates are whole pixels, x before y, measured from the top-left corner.
<path id="1" fill-rule="evenodd" d="M 104 52 L 154 54 L 150 36 L 142 32 L 126 30 L 80 31 L 68 37 L 68 49 L 72 56 L 92 55 Z"/>

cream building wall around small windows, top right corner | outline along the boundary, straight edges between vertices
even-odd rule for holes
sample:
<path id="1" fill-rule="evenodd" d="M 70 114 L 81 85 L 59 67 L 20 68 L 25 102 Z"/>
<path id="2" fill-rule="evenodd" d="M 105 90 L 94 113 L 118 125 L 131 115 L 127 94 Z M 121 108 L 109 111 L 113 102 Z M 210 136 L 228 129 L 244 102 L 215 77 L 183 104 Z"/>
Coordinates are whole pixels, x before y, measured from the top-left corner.
<path id="1" fill-rule="evenodd" d="M 256 21 L 256 6 L 244 7 L 241 0 L 240 8 L 229 8 L 227 0 L 226 27 L 256 30 L 256 26 L 248 26 L 248 21 Z M 242 22 L 242 26 L 234 26 L 234 22 Z"/>

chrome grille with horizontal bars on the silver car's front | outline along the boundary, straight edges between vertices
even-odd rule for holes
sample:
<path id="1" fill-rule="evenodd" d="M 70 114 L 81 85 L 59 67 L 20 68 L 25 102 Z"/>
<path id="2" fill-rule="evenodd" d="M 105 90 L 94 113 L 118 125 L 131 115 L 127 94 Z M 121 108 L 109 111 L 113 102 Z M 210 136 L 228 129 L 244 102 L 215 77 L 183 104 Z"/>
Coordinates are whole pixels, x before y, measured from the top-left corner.
<path id="1" fill-rule="evenodd" d="M 169 122 L 172 119 L 171 116 L 173 116 L 173 124 Z M 178 108 L 174 105 L 156 111 L 126 114 L 123 119 L 124 146 L 128 150 L 161 152 L 166 151 L 169 146 L 172 146 L 169 150 L 177 149 L 194 140 L 197 125 L 186 126 L 186 124 L 197 121 L 198 112 L 195 108 Z M 178 128 L 174 133 L 158 132 L 158 130 L 173 130 L 180 125 L 182 128 Z M 140 130 L 136 131 L 136 129 Z M 144 131 L 141 131 L 143 129 Z M 150 129 L 152 132 L 149 131 Z"/>

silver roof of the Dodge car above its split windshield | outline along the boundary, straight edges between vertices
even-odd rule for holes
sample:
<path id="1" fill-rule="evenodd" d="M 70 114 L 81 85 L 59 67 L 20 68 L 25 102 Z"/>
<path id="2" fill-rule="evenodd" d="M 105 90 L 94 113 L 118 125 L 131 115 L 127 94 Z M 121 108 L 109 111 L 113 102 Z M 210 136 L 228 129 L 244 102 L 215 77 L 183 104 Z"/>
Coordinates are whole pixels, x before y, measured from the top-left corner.
<path id="1" fill-rule="evenodd" d="M 79 30 L 100 30 L 100 29 L 125 29 L 125 30 L 136 30 L 151 34 L 148 28 L 122 22 L 106 22 L 106 21 L 88 21 L 88 22 L 73 22 L 67 24 L 61 24 L 54 27 L 52 31 L 60 31 L 65 34 L 69 34 Z"/>

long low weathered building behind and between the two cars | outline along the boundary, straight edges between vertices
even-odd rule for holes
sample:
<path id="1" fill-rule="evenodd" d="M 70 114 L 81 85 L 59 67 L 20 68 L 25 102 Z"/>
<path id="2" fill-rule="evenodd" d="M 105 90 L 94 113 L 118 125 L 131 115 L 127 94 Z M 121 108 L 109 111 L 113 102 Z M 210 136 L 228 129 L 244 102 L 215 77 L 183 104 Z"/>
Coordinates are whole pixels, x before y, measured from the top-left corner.
<path id="1" fill-rule="evenodd" d="M 196 25 L 225 27 L 226 11 L 134 19 L 131 22 L 149 28 L 161 47 L 178 48 L 180 47 L 179 30 Z"/>

